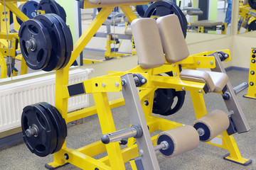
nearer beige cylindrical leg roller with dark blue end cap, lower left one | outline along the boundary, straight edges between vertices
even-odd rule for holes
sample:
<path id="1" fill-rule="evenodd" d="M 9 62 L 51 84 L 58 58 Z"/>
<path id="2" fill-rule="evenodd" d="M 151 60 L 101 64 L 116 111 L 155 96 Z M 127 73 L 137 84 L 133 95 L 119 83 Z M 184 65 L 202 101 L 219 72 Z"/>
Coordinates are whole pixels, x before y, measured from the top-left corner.
<path id="1" fill-rule="evenodd" d="M 157 145 L 160 145 L 161 142 L 168 143 L 168 148 L 159 150 L 161 154 L 164 154 L 165 157 L 174 157 L 198 147 L 199 135 L 193 126 L 183 125 L 161 132 L 157 137 Z"/>

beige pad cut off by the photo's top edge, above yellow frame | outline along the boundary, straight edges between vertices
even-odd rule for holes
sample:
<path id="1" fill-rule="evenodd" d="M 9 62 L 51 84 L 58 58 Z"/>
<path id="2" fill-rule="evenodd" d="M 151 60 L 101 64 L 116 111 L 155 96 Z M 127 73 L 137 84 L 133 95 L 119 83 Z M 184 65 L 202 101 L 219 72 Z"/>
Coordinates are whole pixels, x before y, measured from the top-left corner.
<path id="1" fill-rule="evenodd" d="M 159 0 L 89 0 L 91 4 L 111 5 L 111 4 L 129 4 L 141 2 L 154 2 Z"/>

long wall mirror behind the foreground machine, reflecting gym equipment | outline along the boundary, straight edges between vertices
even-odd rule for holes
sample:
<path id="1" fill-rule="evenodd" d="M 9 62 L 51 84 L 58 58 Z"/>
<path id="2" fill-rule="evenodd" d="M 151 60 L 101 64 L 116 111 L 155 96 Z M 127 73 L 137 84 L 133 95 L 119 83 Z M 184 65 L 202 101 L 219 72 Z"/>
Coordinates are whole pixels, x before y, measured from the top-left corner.
<path id="1" fill-rule="evenodd" d="M 220 37 L 219 35 L 228 35 L 230 33 L 230 1 L 231 0 L 156 1 L 154 3 L 144 5 L 134 5 L 131 6 L 131 8 L 137 17 L 159 18 L 159 16 L 168 15 L 170 13 L 176 14 L 181 23 L 184 37 L 187 38 L 186 40 L 188 43 L 193 43 L 218 38 Z M 33 18 L 37 15 L 38 10 L 39 13 L 41 11 L 47 11 L 46 9 L 38 8 L 38 3 L 39 1 L 28 1 L 22 3 L 16 2 L 14 4 L 16 8 L 21 11 L 23 10 L 24 6 L 29 6 L 29 8 L 33 6 L 31 11 L 28 12 L 27 16 L 28 18 Z M 54 5 L 58 6 L 58 8 L 62 8 L 60 5 Z M 41 69 L 31 69 L 26 66 L 26 62 L 23 60 L 21 54 L 22 49 L 20 49 L 21 47 L 19 47 L 19 45 L 16 45 L 14 38 L 18 38 L 18 29 L 22 23 L 21 19 L 16 18 L 15 10 L 10 11 L 9 8 L 4 9 L 3 4 L 1 4 L 0 8 L 1 11 L 6 10 L 6 13 L 9 13 L 9 15 L 7 14 L 4 16 L 4 19 L 7 22 L 1 23 L 1 33 L 9 33 L 10 37 L 9 41 L 7 41 L 6 38 L 1 39 L 0 47 L 6 52 L 4 55 L 1 53 L 0 56 L 1 79 L 41 71 Z M 81 23 L 81 33 L 83 33 L 86 28 L 90 26 L 93 19 L 100 13 L 101 8 L 86 8 L 86 6 L 80 6 L 78 3 L 78 11 L 80 12 L 78 12 L 79 14 L 77 16 L 74 16 L 74 20 L 78 20 L 78 23 Z M 59 15 L 61 15 L 61 12 Z M 68 16 L 68 13 L 66 15 Z M 23 20 L 26 21 L 26 19 Z M 249 21 L 248 23 L 252 22 Z M 107 19 L 102 26 L 100 26 L 99 30 L 97 30 L 97 33 L 95 33 L 93 38 L 91 38 L 87 43 L 85 49 L 82 51 L 82 54 L 80 57 L 78 57 L 78 60 L 74 63 L 74 65 L 79 66 L 82 64 L 93 64 L 95 62 L 112 60 L 113 58 L 136 55 L 129 25 L 130 23 L 127 17 L 124 16 L 121 8 L 114 8 L 110 15 L 107 16 Z M 72 33 L 74 32 L 73 27 L 75 26 L 70 25 Z M 202 36 L 202 38 L 193 38 L 193 40 L 189 40 L 191 36 L 187 35 L 190 33 L 208 33 L 212 36 L 208 36 L 206 38 L 203 38 Z M 50 36 L 54 37 L 53 35 Z M 73 35 L 74 42 L 77 39 L 78 38 L 75 39 Z M 25 50 L 23 51 L 26 52 L 27 50 L 29 53 L 31 50 L 33 50 L 33 47 L 35 46 L 33 42 L 33 40 L 24 41 L 23 49 Z M 51 54 L 54 54 L 54 50 Z M 55 69 L 58 68 L 56 67 L 50 70 Z"/>

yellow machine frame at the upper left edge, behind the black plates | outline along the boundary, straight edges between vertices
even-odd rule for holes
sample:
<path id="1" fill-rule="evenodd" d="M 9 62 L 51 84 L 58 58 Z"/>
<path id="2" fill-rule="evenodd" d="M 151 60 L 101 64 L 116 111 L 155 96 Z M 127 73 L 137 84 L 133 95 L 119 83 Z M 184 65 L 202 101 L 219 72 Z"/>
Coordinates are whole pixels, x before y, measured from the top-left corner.
<path id="1" fill-rule="evenodd" d="M 6 6 L 6 12 L 10 13 L 10 11 L 13 12 L 13 18 L 14 18 L 14 28 L 15 30 L 18 30 L 18 23 L 16 21 L 16 16 L 18 18 L 21 18 L 21 21 L 26 21 L 29 18 L 22 13 L 18 7 L 17 7 L 17 1 L 19 0 L 6 0 L 5 1 L 5 6 Z M 28 0 L 22 0 L 22 1 L 28 1 Z M 11 10 L 10 10 L 11 9 Z M 18 33 L 10 33 L 9 30 L 9 25 L 10 25 L 10 17 L 9 15 L 6 15 L 7 19 L 7 29 L 6 29 L 6 21 L 5 21 L 5 15 L 4 15 L 4 1 L 0 0 L 0 11 L 1 16 L 0 16 L 0 52 L 1 52 L 1 61 L 0 61 L 0 66 L 1 66 L 1 79 L 7 77 L 7 67 L 6 67 L 6 62 L 4 60 L 4 57 L 7 57 L 10 55 L 12 58 L 16 58 L 18 60 L 21 60 L 21 74 L 26 74 L 28 70 L 28 66 L 26 65 L 26 62 L 23 60 L 23 57 L 21 56 L 16 56 L 16 45 L 15 45 L 15 38 L 18 39 Z M 7 41 L 7 33 L 9 37 L 10 43 L 10 49 L 8 50 L 8 41 Z M 10 54 L 9 54 L 10 51 Z M 13 70 L 12 76 L 16 76 L 18 72 L 15 72 Z"/>

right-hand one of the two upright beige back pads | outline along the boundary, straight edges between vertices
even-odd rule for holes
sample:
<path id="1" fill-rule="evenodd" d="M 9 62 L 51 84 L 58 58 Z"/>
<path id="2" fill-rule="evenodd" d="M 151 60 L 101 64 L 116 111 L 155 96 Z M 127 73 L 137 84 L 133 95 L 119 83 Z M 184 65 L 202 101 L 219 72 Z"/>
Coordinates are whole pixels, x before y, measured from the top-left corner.
<path id="1" fill-rule="evenodd" d="M 178 17 L 171 14 L 158 18 L 156 22 L 167 62 L 176 63 L 186 59 L 189 52 Z"/>

